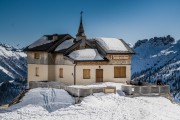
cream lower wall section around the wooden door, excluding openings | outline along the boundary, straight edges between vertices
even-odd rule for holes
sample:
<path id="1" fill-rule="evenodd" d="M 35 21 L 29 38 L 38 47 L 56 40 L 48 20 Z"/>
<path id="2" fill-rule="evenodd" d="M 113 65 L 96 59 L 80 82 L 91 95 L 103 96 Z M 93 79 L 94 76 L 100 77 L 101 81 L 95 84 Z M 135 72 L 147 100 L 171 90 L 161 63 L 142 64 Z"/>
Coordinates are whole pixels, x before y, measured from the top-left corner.
<path id="1" fill-rule="evenodd" d="M 114 67 L 126 66 L 126 78 L 114 78 Z M 103 69 L 103 82 L 126 82 L 131 79 L 130 65 L 77 65 L 76 84 L 88 85 L 96 83 L 96 69 Z M 90 69 L 90 79 L 83 79 L 83 69 Z"/>

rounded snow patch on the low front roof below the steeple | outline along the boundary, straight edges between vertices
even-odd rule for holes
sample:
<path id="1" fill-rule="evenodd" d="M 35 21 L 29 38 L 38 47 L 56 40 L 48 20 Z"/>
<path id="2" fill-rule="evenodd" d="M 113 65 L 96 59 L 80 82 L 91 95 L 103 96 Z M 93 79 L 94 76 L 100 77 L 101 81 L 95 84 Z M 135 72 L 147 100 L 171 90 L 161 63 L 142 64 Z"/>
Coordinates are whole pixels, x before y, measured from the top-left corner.
<path id="1" fill-rule="evenodd" d="M 97 49 L 81 49 L 75 50 L 68 55 L 74 60 L 104 60 L 98 53 Z"/>

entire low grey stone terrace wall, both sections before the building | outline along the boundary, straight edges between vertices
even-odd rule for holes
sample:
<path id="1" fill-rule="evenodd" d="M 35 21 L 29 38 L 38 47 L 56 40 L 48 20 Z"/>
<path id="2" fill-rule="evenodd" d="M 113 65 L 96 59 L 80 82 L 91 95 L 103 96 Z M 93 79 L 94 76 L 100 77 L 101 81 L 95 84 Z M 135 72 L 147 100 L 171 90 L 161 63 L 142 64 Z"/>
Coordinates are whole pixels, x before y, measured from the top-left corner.
<path id="1" fill-rule="evenodd" d="M 31 81 L 29 83 L 29 88 L 37 87 L 46 87 L 46 88 L 57 88 L 64 89 L 70 95 L 74 97 L 86 97 L 92 95 L 93 93 L 116 93 L 115 87 L 76 87 L 76 86 L 67 86 L 61 82 L 35 82 Z M 134 86 L 134 85 L 122 85 L 122 91 L 127 95 L 162 95 L 169 94 L 170 87 L 168 85 L 157 86 L 157 85 L 148 85 L 148 86 Z"/>

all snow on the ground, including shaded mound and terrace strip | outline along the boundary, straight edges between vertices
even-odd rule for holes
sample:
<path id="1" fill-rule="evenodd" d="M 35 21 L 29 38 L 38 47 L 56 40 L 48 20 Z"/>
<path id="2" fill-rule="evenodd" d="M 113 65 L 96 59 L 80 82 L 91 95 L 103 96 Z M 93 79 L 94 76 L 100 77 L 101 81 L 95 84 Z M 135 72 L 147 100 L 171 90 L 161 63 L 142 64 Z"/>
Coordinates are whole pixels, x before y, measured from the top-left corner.
<path id="1" fill-rule="evenodd" d="M 120 89 L 121 84 L 92 85 L 92 87 L 96 86 L 117 86 L 117 89 Z M 180 118 L 180 106 L 164 97 L 130 98 L 119 94 L 96 93 L 85 97 L 79 104 L 73 104 L 74 99 L 64 90 L 32 89 L 22 102 L 9 108 L 10 112 L 0 113 L 0 119 L 179 120 Z"/>

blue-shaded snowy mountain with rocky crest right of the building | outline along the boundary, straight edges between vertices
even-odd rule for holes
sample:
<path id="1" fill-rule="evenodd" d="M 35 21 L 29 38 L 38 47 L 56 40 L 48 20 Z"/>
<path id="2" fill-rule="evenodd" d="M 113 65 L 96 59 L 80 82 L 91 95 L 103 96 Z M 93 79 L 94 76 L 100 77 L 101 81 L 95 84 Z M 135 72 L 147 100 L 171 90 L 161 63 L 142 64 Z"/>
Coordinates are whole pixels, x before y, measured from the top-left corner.
<path id="1" fill-rule="evenodd" d="M 170 35 L 139 40 L 134 45 L 132 79 L 155 83 L 158 78 L 180 91 L 180 40 Z"/>

